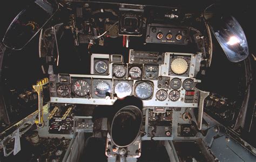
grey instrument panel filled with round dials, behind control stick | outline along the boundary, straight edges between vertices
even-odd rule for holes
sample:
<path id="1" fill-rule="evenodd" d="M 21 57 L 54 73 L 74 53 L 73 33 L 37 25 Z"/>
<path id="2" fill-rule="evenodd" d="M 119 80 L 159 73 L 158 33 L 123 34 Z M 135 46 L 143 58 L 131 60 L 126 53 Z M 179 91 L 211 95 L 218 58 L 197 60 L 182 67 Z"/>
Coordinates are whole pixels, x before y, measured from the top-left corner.
<path id="1" fill-rule="evenodd" d="M 131 50 L 129 62 L 138 53 L 141 56 L 143 51 Z M 200 53 L 152 54 L 164 60 L 160 64 L 112 62 L 107 59 L 111 55 L 92 55 L 93 75 L 50 75 L 51 102 L 112 105 L 116 99 L 133 95 L 144 106 L 198 106 L 195 85 L 200 80 L 191 76 L 197 73 L 194 66 L 200 66 Z M 100 56 L 104 56 L 102 60 Z"/>

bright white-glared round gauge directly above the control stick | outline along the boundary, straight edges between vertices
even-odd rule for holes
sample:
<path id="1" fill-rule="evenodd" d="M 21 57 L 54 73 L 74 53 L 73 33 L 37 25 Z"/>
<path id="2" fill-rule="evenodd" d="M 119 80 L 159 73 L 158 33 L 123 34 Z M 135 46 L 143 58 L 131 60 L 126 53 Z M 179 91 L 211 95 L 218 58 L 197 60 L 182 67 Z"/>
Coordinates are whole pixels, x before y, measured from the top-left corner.
<path id="1" fill-rule="evenodd" d="M 124 98 L 131 95 L 132 87 L 127 82 L 120 82 L 114 87 L 114 92 L 117 94 L 117 97 Z"/>

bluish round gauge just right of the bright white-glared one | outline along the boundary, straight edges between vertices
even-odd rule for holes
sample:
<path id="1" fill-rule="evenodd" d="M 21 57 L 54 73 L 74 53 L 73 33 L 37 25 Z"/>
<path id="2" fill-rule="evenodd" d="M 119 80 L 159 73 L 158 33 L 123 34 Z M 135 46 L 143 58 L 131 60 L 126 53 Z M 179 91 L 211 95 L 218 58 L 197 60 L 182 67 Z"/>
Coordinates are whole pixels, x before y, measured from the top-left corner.
<path id="1" fill-rule="evenodd" d="M 135 95 L 139 99 L 148 99 L 153 95 L 153 87 L 147 82 L 139 83 L 135 88 Z"/>

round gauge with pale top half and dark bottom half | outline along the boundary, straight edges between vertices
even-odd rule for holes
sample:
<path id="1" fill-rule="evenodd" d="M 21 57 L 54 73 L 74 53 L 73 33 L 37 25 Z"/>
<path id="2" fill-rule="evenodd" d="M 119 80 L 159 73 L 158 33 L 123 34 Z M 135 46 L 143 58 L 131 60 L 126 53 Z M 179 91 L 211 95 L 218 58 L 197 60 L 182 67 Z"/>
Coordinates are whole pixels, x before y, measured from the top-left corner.
<path id="1" fill-rule="evenodd" d="M 94 93 L 98 97 L 106 97 L 106 93 L 111 92 L 111 86 L 105 81 L 99 81 L 94 87 Z"/>

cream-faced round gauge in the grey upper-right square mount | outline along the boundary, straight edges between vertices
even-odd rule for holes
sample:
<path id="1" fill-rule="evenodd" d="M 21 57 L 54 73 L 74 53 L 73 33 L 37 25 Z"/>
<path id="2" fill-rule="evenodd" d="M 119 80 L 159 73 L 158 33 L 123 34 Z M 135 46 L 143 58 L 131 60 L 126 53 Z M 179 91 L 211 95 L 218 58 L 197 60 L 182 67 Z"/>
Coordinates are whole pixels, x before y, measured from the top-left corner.
<path id="1" fill-rule="evenodd" d="M 176 58 L 172 60 L 171 70 L 177 75 L 184 74 L 188 69 L 188 63 L 184 58 Z"/>

